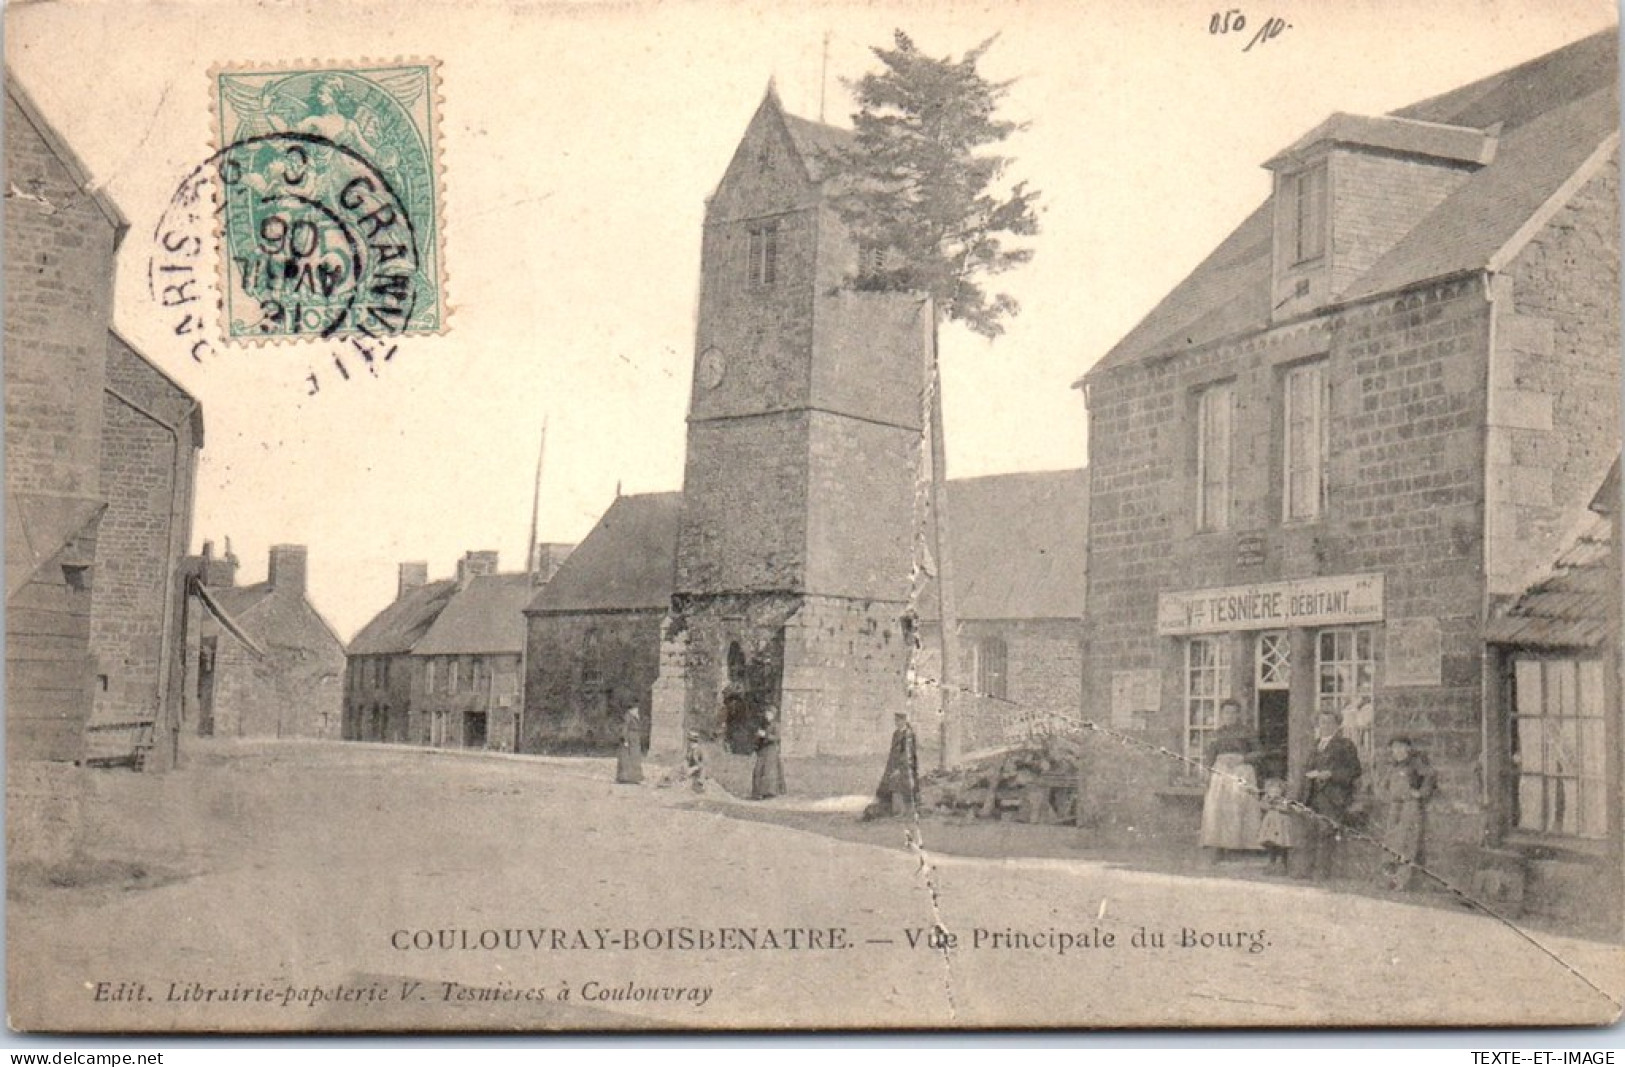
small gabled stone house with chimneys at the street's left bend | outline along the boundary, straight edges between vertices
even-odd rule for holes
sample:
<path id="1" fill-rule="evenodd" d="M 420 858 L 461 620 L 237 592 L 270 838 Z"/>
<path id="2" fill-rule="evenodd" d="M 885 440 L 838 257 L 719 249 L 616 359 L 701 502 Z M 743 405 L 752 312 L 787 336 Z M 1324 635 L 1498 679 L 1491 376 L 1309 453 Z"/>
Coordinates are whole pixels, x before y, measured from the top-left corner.
<path id="1" fill-rule="evenodd" d="M 187 656 L 188 719 L 203 737 L 333 737 L 344 641 L 310 604 L 309 552 L 271 546 L 265 581 L 237 585 L 237 557 L 193 560 L 205 599 Z"/>

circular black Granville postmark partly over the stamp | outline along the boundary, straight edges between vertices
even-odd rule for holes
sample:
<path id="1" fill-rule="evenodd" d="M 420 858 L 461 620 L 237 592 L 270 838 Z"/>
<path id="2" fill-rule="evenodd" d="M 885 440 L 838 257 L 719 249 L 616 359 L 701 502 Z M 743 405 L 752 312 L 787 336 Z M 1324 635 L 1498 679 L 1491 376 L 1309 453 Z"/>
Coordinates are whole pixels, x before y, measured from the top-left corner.
<path id="1" fill-rule="evenodd" d="M 148 292 L 198 362 L 219 344 L 327 341 L 348 378 L 346 357 L 375 370 L 413 323 L 419 248 L 405 200 L 359 151 L 263 133 L 176 188 L 153 232 Z"/>

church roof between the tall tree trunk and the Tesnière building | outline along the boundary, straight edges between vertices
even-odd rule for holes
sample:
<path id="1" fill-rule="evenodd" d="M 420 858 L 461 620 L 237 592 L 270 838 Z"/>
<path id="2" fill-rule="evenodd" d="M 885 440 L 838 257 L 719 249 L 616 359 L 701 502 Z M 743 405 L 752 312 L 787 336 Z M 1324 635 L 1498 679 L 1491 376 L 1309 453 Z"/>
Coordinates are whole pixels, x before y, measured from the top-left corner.
<path id="1" fill-rule="evenodd" d="M 947 529 L 960 619 L 1082 619 L 1089 471 L 949 479 Z"/>

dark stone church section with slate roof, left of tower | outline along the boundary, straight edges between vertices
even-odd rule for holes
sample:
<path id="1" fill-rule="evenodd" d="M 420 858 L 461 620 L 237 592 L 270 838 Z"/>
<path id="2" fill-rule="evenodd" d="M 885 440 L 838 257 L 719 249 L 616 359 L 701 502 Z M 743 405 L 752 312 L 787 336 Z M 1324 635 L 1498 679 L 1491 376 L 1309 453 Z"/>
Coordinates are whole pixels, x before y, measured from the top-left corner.
<path id="1" fill-rule="evenodd" d="M 650 726 L 681 508 L 676 492 L 616 497 L 525 607 L 525 752 L 613 752 L 632 705 Z"/>

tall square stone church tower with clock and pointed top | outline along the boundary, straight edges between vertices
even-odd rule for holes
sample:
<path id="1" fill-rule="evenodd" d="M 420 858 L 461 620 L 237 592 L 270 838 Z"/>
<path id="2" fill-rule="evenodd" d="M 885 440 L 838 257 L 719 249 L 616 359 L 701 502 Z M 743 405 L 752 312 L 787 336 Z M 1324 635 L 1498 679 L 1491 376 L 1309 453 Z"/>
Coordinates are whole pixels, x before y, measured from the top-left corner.
<path id="1" fill-rule="evenodd" d="M 786 755 L 884 752 L 905 698 L 930 312 L 842 289 L 848 140 L 769 88 L 707 203 L 656 747 L 749 750 L 772 703 Z"/>

